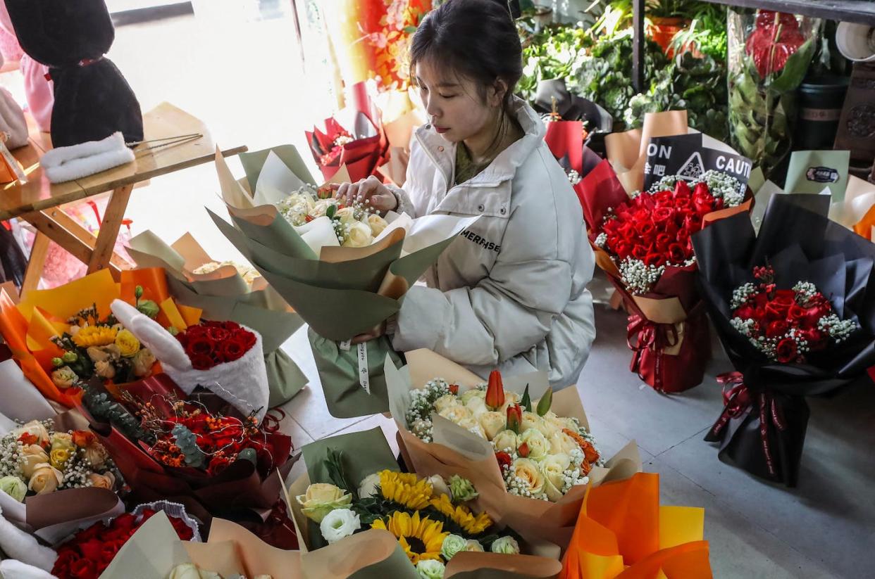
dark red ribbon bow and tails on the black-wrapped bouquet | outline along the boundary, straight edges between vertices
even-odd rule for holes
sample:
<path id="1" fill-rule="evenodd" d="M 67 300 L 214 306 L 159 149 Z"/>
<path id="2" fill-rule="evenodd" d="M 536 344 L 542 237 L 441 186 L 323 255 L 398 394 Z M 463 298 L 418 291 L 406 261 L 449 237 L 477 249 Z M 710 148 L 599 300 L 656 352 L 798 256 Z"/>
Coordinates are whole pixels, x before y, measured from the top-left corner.
<path id="1" fill-rule="evenodd" d="M 744 383 L 744 376 L 741 372 L 727 372 L 717 377 L 719 384 L 723 386 L 723 404 L 724 409 L 720 414 L 717 422 L 711 427 L 711 434 L 719 436 L 725 429 L 726 424 L 729 424 L 731 418 L 739 418 L 749 410 L 754 401 L 759 406 L 760 410 L 760 443 L 763 447 L 763 456 L 766 458 L 766 466 L 770 475 L 774 477 L 774 459 L 772 458 L 772 448 L 768 440 L 768 425 L 774 424 L 779 431 L 787 429 L 787 423 L 784 417 L 781 416 L 781 409 L 774 402 L 774 398 L 770 394 L 751 394 Z"/>

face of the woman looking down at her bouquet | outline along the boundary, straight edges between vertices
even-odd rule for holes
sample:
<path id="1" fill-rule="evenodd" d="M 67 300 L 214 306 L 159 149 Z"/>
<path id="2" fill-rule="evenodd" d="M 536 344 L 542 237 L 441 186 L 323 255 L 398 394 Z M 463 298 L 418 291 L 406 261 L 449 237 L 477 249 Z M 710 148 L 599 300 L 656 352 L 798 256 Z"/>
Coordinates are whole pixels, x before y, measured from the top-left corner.
<path id="1" fill-rule="evenodd" d="M 416 64 L 416 85 L 425 112 L 438 134 L 447 141 L 492 139 L 499 120 L 501 95 L 459 75 L 445 72 L 428 61 Z"/>

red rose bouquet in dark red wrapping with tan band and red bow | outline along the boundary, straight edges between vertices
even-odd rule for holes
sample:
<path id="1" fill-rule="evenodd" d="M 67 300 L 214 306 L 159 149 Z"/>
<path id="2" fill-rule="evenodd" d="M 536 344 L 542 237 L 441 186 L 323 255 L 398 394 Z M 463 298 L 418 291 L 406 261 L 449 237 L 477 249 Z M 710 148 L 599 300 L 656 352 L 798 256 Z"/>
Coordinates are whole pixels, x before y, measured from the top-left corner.
<path id="1" fill-rule="evenodd" d="M 701 383 L 711 340 L 690 237 L 712 220 L 747 209 L 738 181 L 716 171 L 693 181 L 667 176 L 629 196 L 605 161 L 581 189 L 596 263 L 629 312 L 630 369 L 661 392 Z"/>

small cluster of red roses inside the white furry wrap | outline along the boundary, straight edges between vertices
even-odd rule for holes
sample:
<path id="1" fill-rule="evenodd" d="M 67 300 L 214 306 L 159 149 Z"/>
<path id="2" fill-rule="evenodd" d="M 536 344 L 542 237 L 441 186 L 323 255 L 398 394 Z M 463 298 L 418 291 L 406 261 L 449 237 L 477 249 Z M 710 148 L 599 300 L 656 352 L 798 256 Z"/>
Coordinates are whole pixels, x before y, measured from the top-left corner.
<path id="1" fill-rule="evenodd" d="M 202 321 L 177 334 L 176 339 L 193 368 L 199 370 L 240 360 L 257 341 L 255 334 L 235 321 Z"/>

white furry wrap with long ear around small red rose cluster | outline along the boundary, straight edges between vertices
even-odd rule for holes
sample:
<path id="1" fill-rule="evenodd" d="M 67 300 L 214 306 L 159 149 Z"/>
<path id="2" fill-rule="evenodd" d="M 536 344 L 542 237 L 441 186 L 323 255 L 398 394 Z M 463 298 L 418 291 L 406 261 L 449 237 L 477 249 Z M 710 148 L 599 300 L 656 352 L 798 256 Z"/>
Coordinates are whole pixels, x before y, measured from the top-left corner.
<path id="1" fill-rule="evenodd" d="M 202 386 L 243 414 L 255 411 L 259 422 L 267 414 L 268 373 L 264 365 L 262 335 L 254 329 L 242 326 L 255 334 L 255 346 L 249 348 L 242 358 L 221 363 L 211 369 L 198 370 L 193 369 L 192 362 L 179 340 L 157 321 L 140 314 L 136 307 L 122 300 L 113 301 L 111 308 L 116 319 L 151 350 L 161 362 L 167 376 L 186 394 L 191 394 L 197 386 Z"/>

